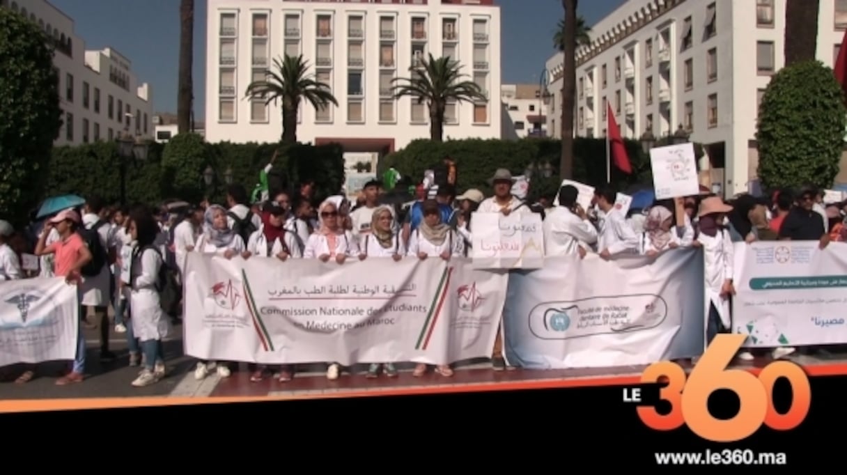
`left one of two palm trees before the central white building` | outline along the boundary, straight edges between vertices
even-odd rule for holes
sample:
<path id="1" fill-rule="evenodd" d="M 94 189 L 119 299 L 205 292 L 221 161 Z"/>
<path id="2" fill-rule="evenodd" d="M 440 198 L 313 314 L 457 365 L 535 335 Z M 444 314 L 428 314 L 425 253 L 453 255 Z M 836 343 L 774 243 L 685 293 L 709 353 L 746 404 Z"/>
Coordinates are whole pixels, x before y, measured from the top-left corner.
<path id="1" fill-rule="evenodd" d="M 338 101 L 329 85 L 309 74 L 309 65 L 303 55 L 285 55 L 281 61 L 274 58 L 274 68 L 265 70 L 265 79 L 253 81 L 247 86 L 246 97 L 263 99 L 265 105 L 279 100 L 282 102 L 282 141 L 297 141 L 297 109 L 305 99 L 315 110 L 329 107 Z"/>

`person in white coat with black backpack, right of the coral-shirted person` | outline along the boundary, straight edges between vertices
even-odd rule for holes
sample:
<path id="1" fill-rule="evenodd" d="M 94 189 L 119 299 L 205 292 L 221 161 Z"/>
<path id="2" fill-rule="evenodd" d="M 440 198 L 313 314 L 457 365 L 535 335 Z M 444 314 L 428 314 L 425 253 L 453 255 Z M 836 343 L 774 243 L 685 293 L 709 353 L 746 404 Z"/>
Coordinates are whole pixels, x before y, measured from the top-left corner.
<path id="1" fill-rule="evenodd" d="M 110 242 L 111 225 L 103 215 L 105 204 L 99 196 L 91 196 L 86 200 L 82 214 L 82 226 L 77 232 L 91 252 L 91 262 L 88 262 L 80 272 L 80 305 L 87 309 L 94 308 L 94 324 L 100 330 L 100 361 L 112 362 L 114 354 L 109 351 L 108 306 L 112 301 L 112 271 L 109 268 L 115 262 L 113 246 Z M 85 320 L 86 313 L 80 318 Z"/>

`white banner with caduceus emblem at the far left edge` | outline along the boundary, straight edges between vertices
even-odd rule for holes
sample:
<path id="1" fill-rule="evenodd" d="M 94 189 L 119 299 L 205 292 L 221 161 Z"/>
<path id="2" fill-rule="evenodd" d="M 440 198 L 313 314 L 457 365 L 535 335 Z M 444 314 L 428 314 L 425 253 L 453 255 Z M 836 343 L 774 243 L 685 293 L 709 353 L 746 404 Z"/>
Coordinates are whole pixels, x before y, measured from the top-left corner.
<path id="1" fill-rule="evenodd" d="M 0 367 L 73 360 L 78 302 L 76 286 L 61 277 L 0 284 Z"/>

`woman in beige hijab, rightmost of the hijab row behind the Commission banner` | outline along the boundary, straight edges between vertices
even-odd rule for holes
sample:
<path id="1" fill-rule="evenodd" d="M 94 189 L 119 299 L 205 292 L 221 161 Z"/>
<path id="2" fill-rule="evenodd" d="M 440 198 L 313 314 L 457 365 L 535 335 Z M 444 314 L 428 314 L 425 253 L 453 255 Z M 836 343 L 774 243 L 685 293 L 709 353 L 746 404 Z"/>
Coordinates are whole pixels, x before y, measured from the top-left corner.
<path id="1" fill-rule="evenodd" d="M 462 257 L 465 247 L 464 240 L 457 236 L 449 225 L 441 222 L 441 210 L 438 202 L 426 200 L 422 209 L 424 218 L 409 237 L 408 255 L 418 257 L 421 260 L 429 257 L 440 257 L 445 261 L 449 261 L 451 257 Z M 427 365 L 418 363 L 412 376 L 423 376 L 426 371 Z M 453 375 L 453 370 L 447 364 L 437 365 L 435 372 L 445 377 Z"/>

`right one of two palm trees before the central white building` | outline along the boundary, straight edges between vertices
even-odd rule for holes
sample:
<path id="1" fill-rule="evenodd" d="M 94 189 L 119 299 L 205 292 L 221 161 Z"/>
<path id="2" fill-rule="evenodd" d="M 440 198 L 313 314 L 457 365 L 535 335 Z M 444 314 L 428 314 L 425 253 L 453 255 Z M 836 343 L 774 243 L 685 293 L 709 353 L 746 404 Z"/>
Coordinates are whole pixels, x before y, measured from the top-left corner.
<path id="1" fill-rule="evenodd" d="M 448 102 L 488 101 L 479 86 L 464 80 L 462 66 L 451 58 L 422 59 L 418 66 L 409 68 L 411 78 L 395 78 L 392 86 L 394 97 L 412 97 L 418 104 L 429 106 L 429 138 L 440 142 L 444 136 L 444 114 Z"/>

